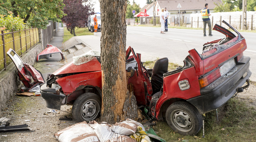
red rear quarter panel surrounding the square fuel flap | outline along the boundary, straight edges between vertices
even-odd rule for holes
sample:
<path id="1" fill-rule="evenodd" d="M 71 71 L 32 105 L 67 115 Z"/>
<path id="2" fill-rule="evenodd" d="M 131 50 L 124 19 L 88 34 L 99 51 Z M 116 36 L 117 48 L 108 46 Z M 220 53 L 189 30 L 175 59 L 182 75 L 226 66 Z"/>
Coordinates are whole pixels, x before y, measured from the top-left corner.
<path id="1" fill-rule="evenodd" d="M 190 88 L 181 91 L 178 82 L 184 79 L 189 81 Z M 165 76 L 163 78 L 163 94 L 156 104 L 156 118 L 158 119 L 162 105 L 167 103 L 168 100 L 172 98 L 180 98 L 186 100 L 199 95 L 200 87 L 198 83 L 198 76 L 195 75 L 194 67 L 184 69 L 181 72 L 171 74 L 169 76 Z"/>

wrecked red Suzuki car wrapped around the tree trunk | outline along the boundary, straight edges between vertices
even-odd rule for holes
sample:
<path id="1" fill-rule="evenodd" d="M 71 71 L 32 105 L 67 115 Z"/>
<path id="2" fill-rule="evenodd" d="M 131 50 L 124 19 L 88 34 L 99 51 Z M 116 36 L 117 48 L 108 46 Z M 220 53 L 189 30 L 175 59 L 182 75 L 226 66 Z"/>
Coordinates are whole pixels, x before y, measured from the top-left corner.
<path id="1" fill-rule="evenodd" d="M 134 87 L 137 105 L 147 108 L 153 118 L 165 118 L 180 134 L 198 133 L 202 128 L 202 114 L 217 109 L 249 86 L 252 73 L 250 58 L 243 56 L 247 48 L 245 38 L 223 23 L 236 35 L 215 24 L 213 29 L 226 37 L 205 43 L 202 54 L 189 50 L 184 66 L 171 72 L 167 70 L 167 58 L 158 59 L 153 70 L 147 70 L 142 65 L 141 54 L 135 54 L 131 47 L 126 51 L 126 70 L 132 72 L 128 83 Z M 73 104 L 76 121 L 94 120 L 100 114 L 101 75 L 99 56 L 78 66 L 71 62 L 51 74 L 41 86 L 41 95 L 52 109 Z"/>

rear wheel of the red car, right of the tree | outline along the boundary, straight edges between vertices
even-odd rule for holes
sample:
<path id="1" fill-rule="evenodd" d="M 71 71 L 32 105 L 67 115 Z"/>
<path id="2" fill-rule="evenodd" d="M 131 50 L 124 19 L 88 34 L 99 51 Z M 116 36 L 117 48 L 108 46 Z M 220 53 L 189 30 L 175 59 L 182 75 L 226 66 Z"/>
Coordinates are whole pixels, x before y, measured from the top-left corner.
<path id="1" fill-rule="evenodd" d="M 175 102 L 166 111 L 168 125 L 182 135 L 194 135 L 202 128 L 202 115 L 188 102 Z"/>

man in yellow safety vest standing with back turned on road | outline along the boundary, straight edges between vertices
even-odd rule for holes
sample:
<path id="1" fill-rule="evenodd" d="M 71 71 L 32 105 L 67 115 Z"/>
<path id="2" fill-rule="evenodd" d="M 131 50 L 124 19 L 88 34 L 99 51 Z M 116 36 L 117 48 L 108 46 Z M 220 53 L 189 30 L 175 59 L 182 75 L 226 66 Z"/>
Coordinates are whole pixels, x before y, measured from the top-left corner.
<path id="1" fill-rule="evenodd" d="M 212 26 L 211 26 L 211 20 L 209 18 L 210 14 L 210 10 L 208 9 L 208 3 L 205 3 L 204 5 L 204 9 L 201 10 L 201 14 L 202 14 L 202 19 L 204 22 L 204 36 L 206 36 L 206 24 L 208 24 L 209 27 L 209 36 L 213 36 L 212 35 Z"/>

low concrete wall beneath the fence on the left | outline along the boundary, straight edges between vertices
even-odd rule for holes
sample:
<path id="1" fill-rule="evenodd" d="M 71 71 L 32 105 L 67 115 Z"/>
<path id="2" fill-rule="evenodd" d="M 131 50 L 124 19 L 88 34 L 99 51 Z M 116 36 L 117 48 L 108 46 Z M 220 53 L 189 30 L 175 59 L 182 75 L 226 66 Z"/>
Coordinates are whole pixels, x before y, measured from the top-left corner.
<path id="1" fill-rule="evenodd" d="M 30 65 L 33 65 L 36 59 L 36 56 L 42 52 L 42 44 L 38 43 L 28 50 L 27 53 L 23 54 L 21 59 L 23 62 L 27 62 Z M 14 66 L 14 63 L 11 63 L 7 66 L 6 71 L 1 71 L 0 73 L 0 114 L 2 113 L 3 108 L 6 106 L 8 100 L 14 95 L 18 89 L 18 86 L 22 82 L 19 80 L 17 68 Z"/>

